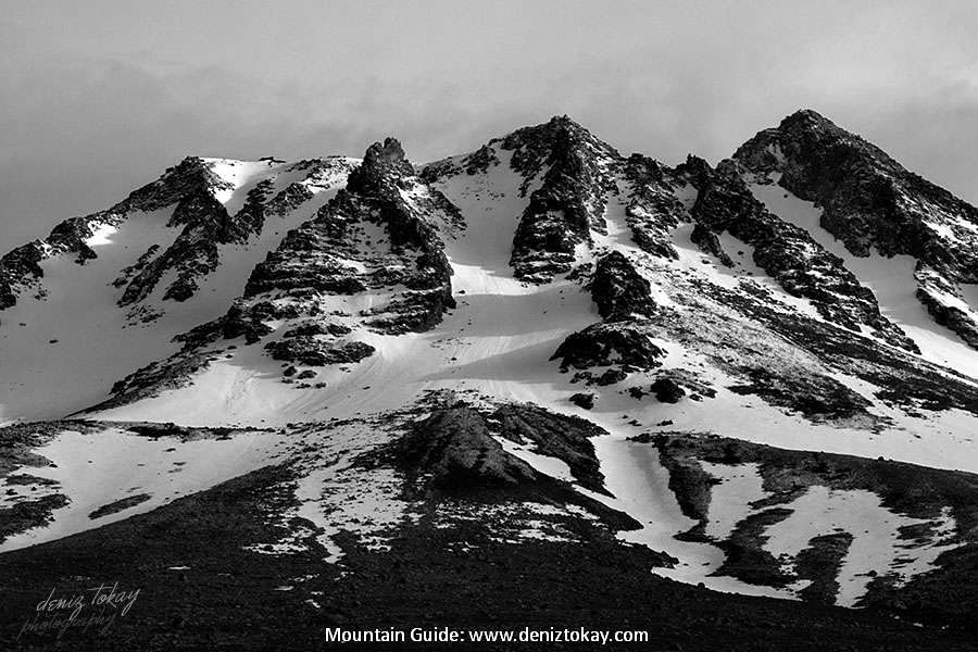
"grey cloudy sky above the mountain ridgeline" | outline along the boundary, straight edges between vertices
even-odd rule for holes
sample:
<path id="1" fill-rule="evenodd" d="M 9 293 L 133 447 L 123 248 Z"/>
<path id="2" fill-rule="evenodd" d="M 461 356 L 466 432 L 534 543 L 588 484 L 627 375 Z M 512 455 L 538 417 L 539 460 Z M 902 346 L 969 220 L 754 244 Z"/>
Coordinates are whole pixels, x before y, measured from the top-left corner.
<path id="1" fill-rule="evenodd" d="M 187 154 L 421 162 L 557 113 L 716 162 L 810 106 L 978 203 L 976 43 L 970 1 L 0 0 L 0 249 Z"/>

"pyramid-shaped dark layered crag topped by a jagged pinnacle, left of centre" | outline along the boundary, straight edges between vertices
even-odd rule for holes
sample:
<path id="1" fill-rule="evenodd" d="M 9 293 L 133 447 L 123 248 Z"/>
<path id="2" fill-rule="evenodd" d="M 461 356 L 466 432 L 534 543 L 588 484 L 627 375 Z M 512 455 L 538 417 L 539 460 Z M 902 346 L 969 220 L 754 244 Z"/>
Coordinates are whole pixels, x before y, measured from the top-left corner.
<path id="1" fill-rule="evenodd" d="M 356 294 L 392 286 L 408 290 L 372 313 L 369 324 L 386 333 L 425 330 L 454 306 L 451 266 L 428 215 L 457 220 L 457 210 L 427 189 L 414 204 L 402 188 L 419 186 L 400 143 L 388 138 L 367 150 L 347 189 L 314 220 L 290 231 L 255 267 L 246 298 L 261 293 L 306 299 L 316 293 Z M 419 206 L 419 208 L 415 208 Z M 383 230 L 374 241 L 376 229 Z"/>

